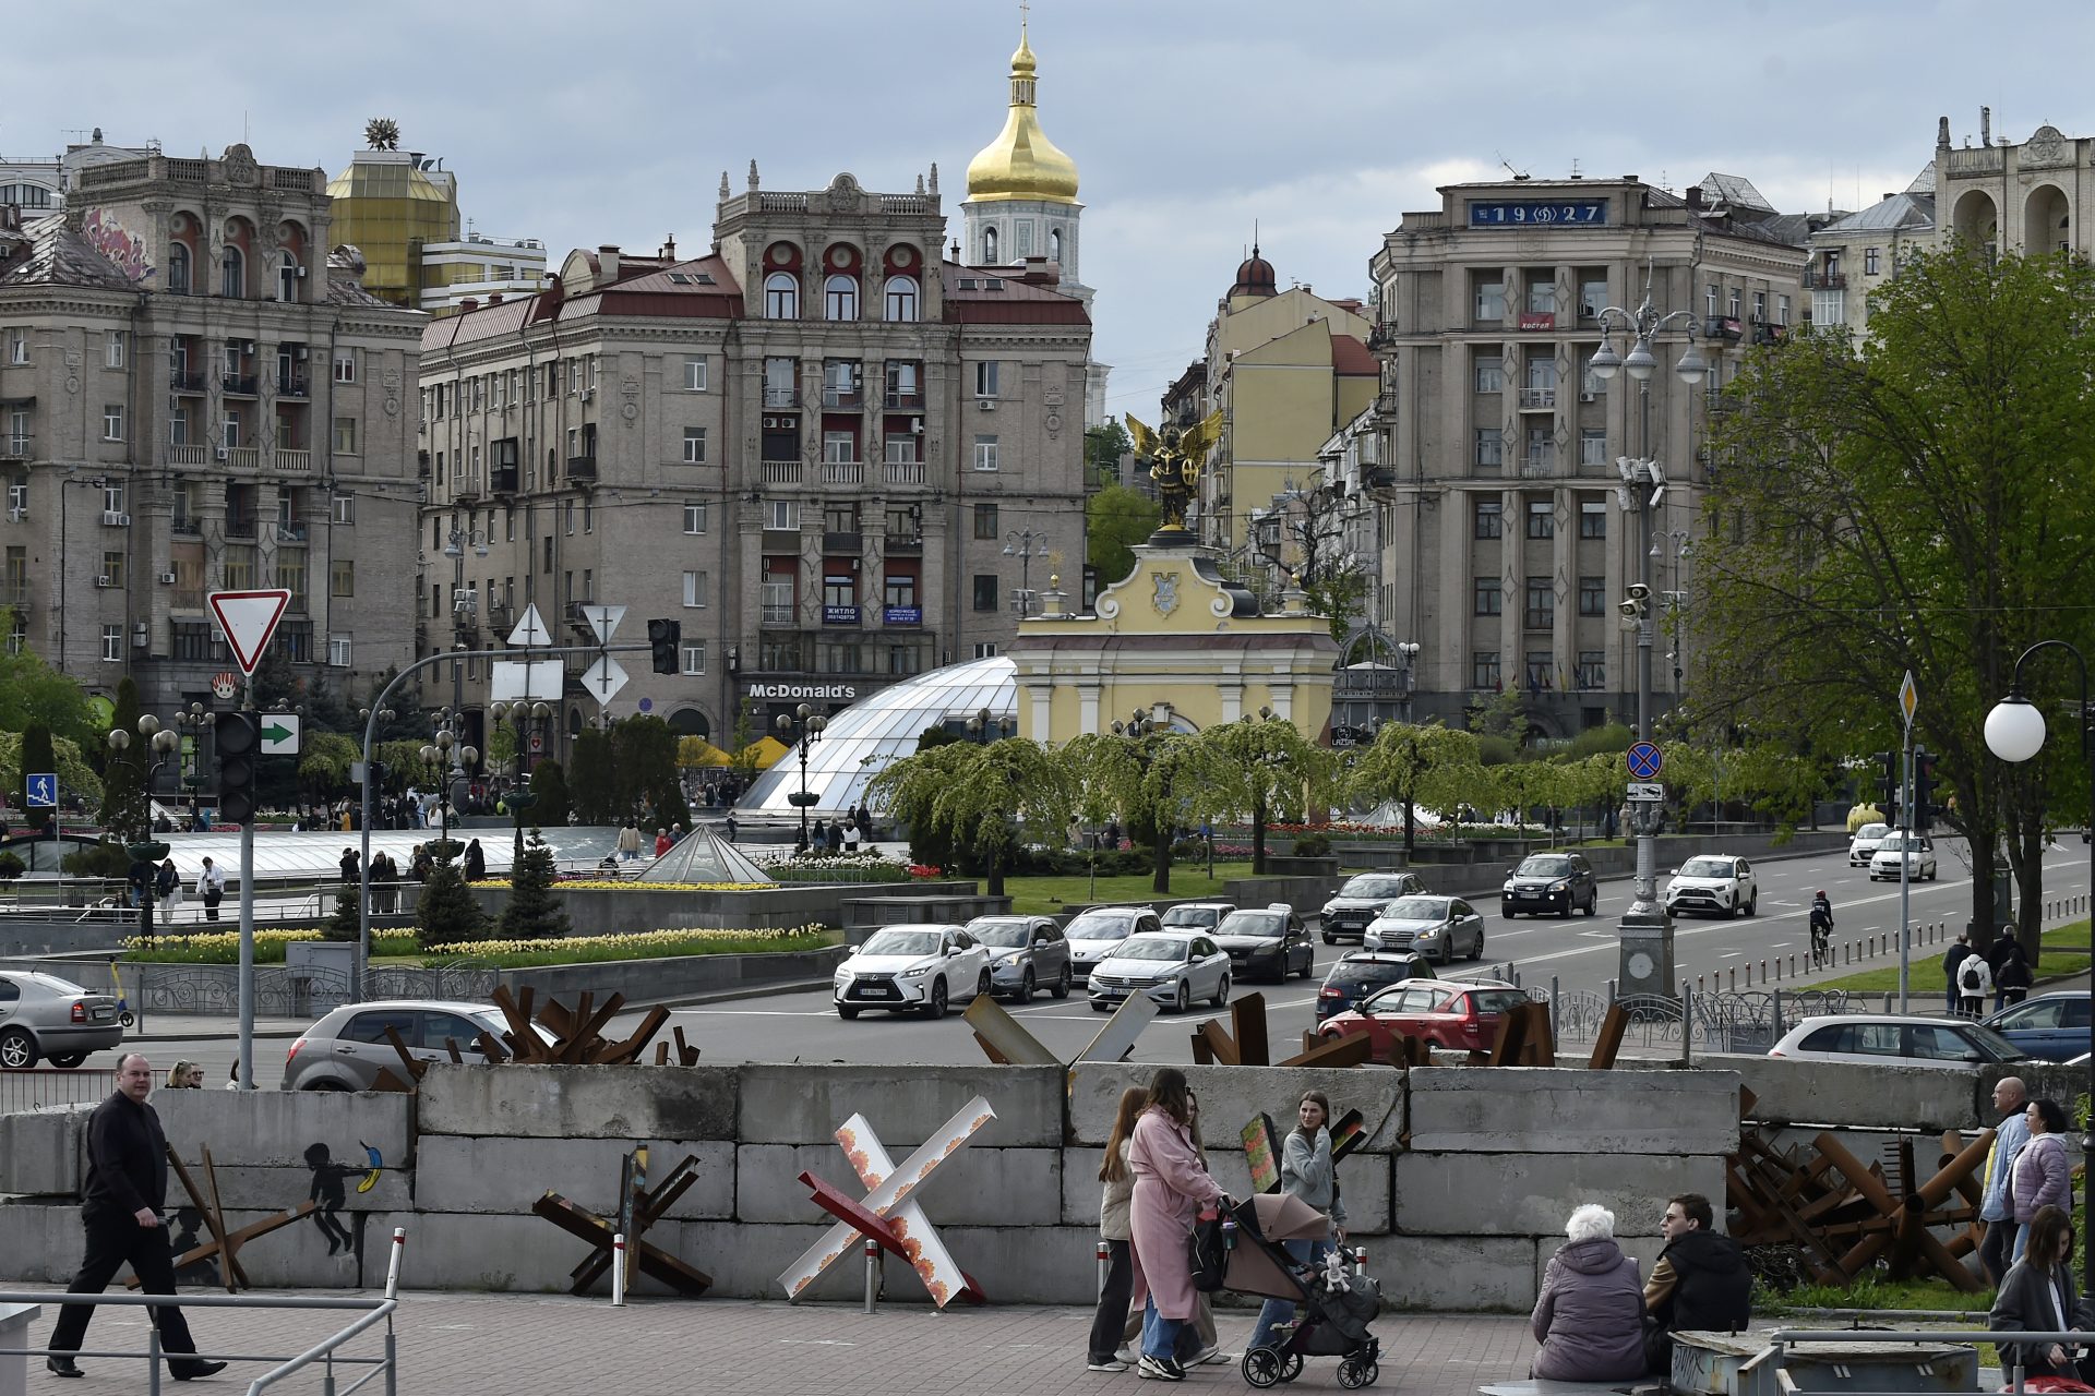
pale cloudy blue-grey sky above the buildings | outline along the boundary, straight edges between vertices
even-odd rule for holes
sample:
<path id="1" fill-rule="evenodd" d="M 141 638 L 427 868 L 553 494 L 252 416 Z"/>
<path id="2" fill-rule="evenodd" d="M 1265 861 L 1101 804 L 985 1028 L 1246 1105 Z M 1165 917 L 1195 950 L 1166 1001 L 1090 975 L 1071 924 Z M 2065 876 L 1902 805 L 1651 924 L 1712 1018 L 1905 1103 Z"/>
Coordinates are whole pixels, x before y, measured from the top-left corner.
<path id="1" fill-rule="evenodd" d="M 126 19 L 132 15 L 138 23 Z M 310 19 L 308 19 L 310 15 Z M 1435 186 L 1743 174 L 1785 211 L 1860 207 L 1959 144 L 2049 121 L 2095 134 L 2087 0 L 1035 0 L 1041 123 L 1081 170 L 1083 276 L 1115 412 L 1150 414 L 1198 352 L 1253 220 L 1282 283 L 1364 295 L 1366 264 Z M 767 188 L 851 170 L 909 190 L 939 165 L 953 230 L 968 159 L 1004 123 L 1018 6 L 719 0 L 295 4 L 272 21 L 128 6 L 8 15 L 0 153 L 122 144 L 341 170 L 367 117 L 442 155 L 482 232 L 555 249 L 687 249 L 723 170 Z"/>

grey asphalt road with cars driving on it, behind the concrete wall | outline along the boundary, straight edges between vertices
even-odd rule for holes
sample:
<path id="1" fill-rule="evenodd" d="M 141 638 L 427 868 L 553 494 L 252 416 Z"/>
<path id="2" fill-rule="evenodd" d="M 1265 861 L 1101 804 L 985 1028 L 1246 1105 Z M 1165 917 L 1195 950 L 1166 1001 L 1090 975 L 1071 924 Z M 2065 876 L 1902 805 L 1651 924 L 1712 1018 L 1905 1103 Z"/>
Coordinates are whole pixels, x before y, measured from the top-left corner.
<path id="1" fill-rule="evenodd" d="M 1969 875 L 1963 846 L 1955 839 L 1936 839 L 1940 877 L 1932 883 L 1911 887 L 1911 919 L 1915 927 L 1948 925 L 1961 927 L 1969 917 Z M 1810 946 L 1806 915 L 1812 892 L 1827 890 L 1833 900 L 1835 942 L 1888 938 L 1896 944 L 1898 929 L 1898 883 L 1871 883 L 1865 869 L 1850 869 L 1844 854 L 1823 854 L 1814 858 L 1779 858 L 1756 862 L 1760 877 L 1760 915 L 1733 921 L 1678 919 L 1674 923 L 1676 965 L 1682 982 L 1693 984 L 1705 975 L 1705 984 L 1716 986 L 1737 973 L 1739 988 L 1745 988 L 1745 969 L 1754 967 L 1754 986 L 1762 984 L 1762 961 L 1770 967 L 1781 956 L 1804 954 Z M 2057 846 L 2045 860 L 2045 898 L 2061 900 L 2089 892 L 2089 858 L 2078 841 Z M 1668 866 L 1661 866 L 1663 873 Z M 1630 879 L 1601 883 L 1601 910 L 1596 917 L 1506 921 L 1498 910 L 1498 898 L 1477 900 L 1485 913 L 1485 959 L 1479 965 L 1452 965 L 1443 973 L 1452 977 L 1487 977 L 1504 965 L 1513 965 L 1527 986 L 1548 984 L 1552 977 L 1563 990 L 1607 990 L 1607 982 L 1617 971 L 1615 919 L 1630 906 Z M 1314 910 L 1314 908 L 1311 908 Z M 1950 931 L 1953 936 L 1955 931 Z M 1278 1049 L 1297 1042 L 1305 1028 L 1316 1023 L 1316 988 L 1324 969 L 1355 946 L 1326 946 L 1316 942 L 1318 969 L 1309 980 L 1288 980 L 1276 984 L 1240 984 L 1234 996 L 1259 992 L 1267 1005 L 1267 1034 Z M 1940 1003 L 1942 946 L 1919 946 L 1913 952 L 1913 1003 L 1917 1011 L 1929 1011 Z M 1867 967 L 1896 965 L 1896 954 L 1879 954 Z M 1814 980 L 1835 973 L 1850 973 L 1842 965 L 1823 975 L 1802 975 L 1791 980 L 1785 971 L 1783 984 L 1806 988 Z M 1045 994 L 1031 1005 L 1006 1005 L 1010 1011 L 1050 1049 L 1064 1057 L 1075 1057 L 1106 1023 L 1104 1013 L 1094 1013 L 1081 990 L 1066 1000 Z M 1135 1044 L 1135 1061 L 1190 1061 L 1190 1030 L 1207 1017 L 1207 1011 L 1184 1017 L 1161 1015 Z M 172 1019 L 153 1023 L 155 1032 Z M 616 1028 L 639 1021 L 639 1013 L 614 1019 Z M 842 1021 L 830 1005 L 828 990 L 775 994 L 765 998 L 744 998 L 712 1003 L 689 1009 L 675 1009 L 670 1021 L 685 1032 L 685 1040 L 704 1053 L 706 1061 L 853 1061 L 853 1063 L 978 1063 L 980 1049 L 968 1026 L 955 1013 L 943 1021 L 918 1017 L 895 1017 L 867 1013 L 857 1021 Z M 664 1030 L 666 1032 L 666 1030 Z M 256 1063 L 264 1086 L 274 1086 L 283 1078 L 287 1040 L 258 1040 Z M 203 1061 L 212 1082 L 226 1078 L 235 1057 L 235 1044 L 224 1036 L 155 1040 L 149 1044 L 155 1063 L 189 1057 Z M 94 1065 L 101 1065 L 96 1061 Z"/>

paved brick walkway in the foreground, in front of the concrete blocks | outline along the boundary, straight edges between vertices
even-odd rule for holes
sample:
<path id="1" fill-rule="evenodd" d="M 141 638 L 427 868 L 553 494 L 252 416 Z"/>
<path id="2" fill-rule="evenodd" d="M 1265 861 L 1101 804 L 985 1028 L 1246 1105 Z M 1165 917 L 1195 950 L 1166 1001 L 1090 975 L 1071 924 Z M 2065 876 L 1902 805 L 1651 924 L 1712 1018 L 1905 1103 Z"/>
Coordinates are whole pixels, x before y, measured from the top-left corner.
<path id="1" fill-rule="evenodd" d="M 306 1291 L 323 1293 L 323 1291 Z M 346 1293 L 346 1291 L 329 1291 Z M 1226 1350 L 1242 1350 L 1255 1310 L 1217 1314 Z M 31 1342 L 48 1342 L 57 1310 L 36 1321 Z M 354 1314 L 323 1310 L 191 1308 L 197 1342 L 214 1352 L 289 1356 Z M 966 1308 L 922 1304 L 857 1306 L 752 1300 L 610 1300 L 522 1293 L 402 1291 L 396 1333 L 402 1396 L 515 1396 L 520 1392 L 727 1392 L 733 1396 L 993 1396 L 1024 1392 L 1129 1392 L 1135 1373 L 1085 1371 L 1089 1308 Z M 1521 1314 L 1383 1314 L 1374 1390 L 1404 1396 L 1469 1396 L 1481 1381 L 1525 1377 L 1534 1339 Z M 145 1312 L 101 1308 L 88 1348 L 145 1348 Z M 375 1354 L 358 1339 L 352 1354 Z M 31 1358 L 29 1392 L 94 1396 L 145 1392 L 142 1363 L 84 1358 L 86 1379 L 69 1381 Z M 163 1392 L 241 1392 L 266 1367 L 243 1363 L 218 1377 Z M 346 1388 L 362 1369 L 337 1369 Z M 1242 1373 L 1196 1367 L 1184 1390 L 1247 1392 Z M 312 1396 L 321 1375 L 270 1388 Z M 362 1388 L 379 1392 L 373 1381 Z M 1142 1392 L 1161 1390 L 1144 1383 Z M 1337 1358 L 1309 1358 L 1286 1390 L 1339 1390 Z"/>

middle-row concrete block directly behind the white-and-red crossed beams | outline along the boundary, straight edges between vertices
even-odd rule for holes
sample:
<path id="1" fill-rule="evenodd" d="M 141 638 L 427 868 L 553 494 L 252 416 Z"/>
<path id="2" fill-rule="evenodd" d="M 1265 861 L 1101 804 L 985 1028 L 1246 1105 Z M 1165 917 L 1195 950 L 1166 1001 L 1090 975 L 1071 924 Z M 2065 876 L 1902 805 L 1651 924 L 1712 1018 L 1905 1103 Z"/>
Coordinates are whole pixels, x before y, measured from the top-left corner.
<path id="1" fill-rule="evenodd" d="M 817 1222 L 828 1216 L 800 1183 L 802 1170 L 851 1197 L 865 1191 L 836 1145 L 742 1145 L 735 1216 L 746 1222 Z M 916 1197 L 941 1226 L 1058 1226 L 1062 1151 L 970 1145 L 947 1157 Z"/>

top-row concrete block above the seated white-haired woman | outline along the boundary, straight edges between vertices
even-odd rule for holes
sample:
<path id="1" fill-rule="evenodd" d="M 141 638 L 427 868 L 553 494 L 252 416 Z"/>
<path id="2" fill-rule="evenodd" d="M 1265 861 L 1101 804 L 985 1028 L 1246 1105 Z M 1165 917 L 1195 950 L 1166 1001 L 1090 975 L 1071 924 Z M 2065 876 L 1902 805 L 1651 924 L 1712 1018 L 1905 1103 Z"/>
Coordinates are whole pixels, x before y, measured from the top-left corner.
<path id="1" fill-rule="evenodd" d="M 1735 1072 L 1414 1067 L 1410 1078 L 1412 1149 L 1427 1153 L 1730 1153 L 1739 1147 Z"/>

